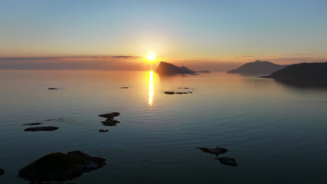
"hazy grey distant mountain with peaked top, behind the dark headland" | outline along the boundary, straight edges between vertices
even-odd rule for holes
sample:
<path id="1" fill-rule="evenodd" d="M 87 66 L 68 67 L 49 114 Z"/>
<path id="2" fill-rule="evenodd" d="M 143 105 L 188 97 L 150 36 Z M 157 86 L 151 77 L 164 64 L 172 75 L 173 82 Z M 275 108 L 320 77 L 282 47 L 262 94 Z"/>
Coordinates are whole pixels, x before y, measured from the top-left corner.
<path id="1" fill-rule="evenodd" d="M 240 74 L 270 74 L 286 66 L 277 65 L 269 61 L 256 60 L 251 63 L 245 63 L 235 70 L 229 70 L 228 73 L 240 73 Z"/>

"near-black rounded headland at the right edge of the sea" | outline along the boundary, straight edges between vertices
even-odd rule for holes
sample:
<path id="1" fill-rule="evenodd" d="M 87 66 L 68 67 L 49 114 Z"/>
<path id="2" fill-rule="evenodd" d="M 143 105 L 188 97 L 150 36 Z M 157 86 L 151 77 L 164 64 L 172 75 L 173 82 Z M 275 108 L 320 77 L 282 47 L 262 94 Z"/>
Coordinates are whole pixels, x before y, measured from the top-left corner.
<path id="1" fill-rule="evenodd" d="M 327 86 L 327 62 L 293 64 L 263 78 L 297 86 Z"/>

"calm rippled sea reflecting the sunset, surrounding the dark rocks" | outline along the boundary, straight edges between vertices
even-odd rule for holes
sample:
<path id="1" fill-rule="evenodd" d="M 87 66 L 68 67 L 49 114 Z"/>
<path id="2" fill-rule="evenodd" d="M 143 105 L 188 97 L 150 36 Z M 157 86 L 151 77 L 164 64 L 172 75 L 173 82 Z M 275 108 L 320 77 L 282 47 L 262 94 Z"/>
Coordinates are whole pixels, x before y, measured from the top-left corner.
<path id="1" fill-rule="evenodd" d="M 219 72 L 61 70 L 0 70 L 0 86 L 0 183 L 28 183 L 17 177 L 27 164 L 75 150 L 107 159 L 69 181 L 78 184 L 327 183 L 327 89 Z M 103 126 L 108 112 L 122 123 Z M 59 130 L 24 132 L 24 123 Z M 238 167 L 197 146 L 228 148 Z"/>

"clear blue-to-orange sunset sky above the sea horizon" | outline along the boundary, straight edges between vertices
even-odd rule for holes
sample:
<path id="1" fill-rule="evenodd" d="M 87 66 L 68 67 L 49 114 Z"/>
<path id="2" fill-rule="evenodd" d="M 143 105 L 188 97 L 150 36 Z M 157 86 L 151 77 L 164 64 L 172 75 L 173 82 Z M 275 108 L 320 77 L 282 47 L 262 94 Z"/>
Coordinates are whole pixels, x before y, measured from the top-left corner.
<path id="1" fill-rule="evenodd" d="M 326 0 L 0 4 L 0 69 L 140 69 L 149 52 L 200 68 L 327 61 Z"/>

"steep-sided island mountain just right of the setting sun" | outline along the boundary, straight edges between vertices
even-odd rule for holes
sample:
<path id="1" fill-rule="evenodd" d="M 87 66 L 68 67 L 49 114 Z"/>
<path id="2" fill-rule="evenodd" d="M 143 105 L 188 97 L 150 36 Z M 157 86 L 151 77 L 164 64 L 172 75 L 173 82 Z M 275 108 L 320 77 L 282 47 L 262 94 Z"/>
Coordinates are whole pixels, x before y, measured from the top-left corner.
<path id="1" fill-rule="evenodd" d="M 187 68 L 185 66 L 178 67 L 178 66 L 174 66 L 171 63 L 166 63 L 163 61 L 161 61 L 159 63 L 159 66 L 157 67 L 156 72 L 159 73 L 160 75 L 175 75 L 175 74 L 194 73 L 194 71 L 189 70 L 189 68 Z"/>

